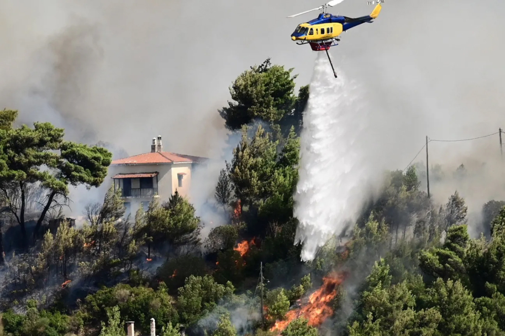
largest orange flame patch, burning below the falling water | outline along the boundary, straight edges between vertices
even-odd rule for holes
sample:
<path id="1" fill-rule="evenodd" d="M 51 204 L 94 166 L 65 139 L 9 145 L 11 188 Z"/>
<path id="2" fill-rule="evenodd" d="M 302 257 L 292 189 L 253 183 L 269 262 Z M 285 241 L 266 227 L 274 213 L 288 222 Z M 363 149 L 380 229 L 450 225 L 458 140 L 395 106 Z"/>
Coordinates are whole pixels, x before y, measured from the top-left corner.
<path id="1" fill-rule="evenodd" d="M 309 320 L 309 325 L 318 327 L 333 315 L 333 309 L 330 306 L 331 301 L 337 295 L 337 286 L 342 283 L 345 275 L 331 273 L 323 278 L 323 285 L 309 297 L 308 302 L 301 304 L 296 309 L 287 312 L 284 320 L 276 321 L 270 331 L 281 332 L 288 324 L 299 317 Z M 301 303 L 301 300 L 297 301 Z"/>

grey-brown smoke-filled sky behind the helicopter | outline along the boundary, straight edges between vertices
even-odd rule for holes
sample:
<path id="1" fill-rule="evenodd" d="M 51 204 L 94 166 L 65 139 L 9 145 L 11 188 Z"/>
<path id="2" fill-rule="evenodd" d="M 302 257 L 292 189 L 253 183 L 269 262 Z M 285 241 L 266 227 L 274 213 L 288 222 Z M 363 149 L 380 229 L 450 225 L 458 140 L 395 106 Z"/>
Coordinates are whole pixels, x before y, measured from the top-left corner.
<path id="1" fill-rule="evenodd" d="M 4 0 L 0 99 L 20 110 L 20 121 L 51 121 L 70 140 L 133 155 L 161 135 L 168 151 L 210 155 L 225 140 L 218 109 L 250 65 L 271 57 L 294 68 L 298 86 L 309 83 L 316 52 L 290 34 L 318 13 L 286 17 L 319 5 Z M 386 0 L 374 23 L 342 33 L 330 54 L 373 111 L 366 140 L 378 169 L 403 169 L 425 136 L 472 138 L 505 127 L 503 9 L 497 0 Z M 372 10 L 346 0 L 330 12 Z M 460 157 L 496 159 L 491 138 L 431 143 L 431 162 L 456 169 Z"/>

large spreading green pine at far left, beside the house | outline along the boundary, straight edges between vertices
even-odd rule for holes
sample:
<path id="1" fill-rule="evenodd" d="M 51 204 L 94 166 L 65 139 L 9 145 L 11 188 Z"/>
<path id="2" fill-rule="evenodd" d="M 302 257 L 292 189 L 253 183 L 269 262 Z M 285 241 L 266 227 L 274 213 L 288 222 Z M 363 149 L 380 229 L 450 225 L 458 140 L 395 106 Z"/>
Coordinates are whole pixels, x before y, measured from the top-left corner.
<path id="1" fill-rule="evenodd" d="M 21 226 L 26 244 L 24 222 L 29 185 L 40 183 L 47 190 L 47 198 L 34 230 L 34 234 L 37 234 L 57 196 L 68 196 L 69 185 L 82 184 L 89 189 L 102 184 L 111 164 L 112 154 L 105 148 L 64 141 L 64 129 L 48 122 L 35 122 L 34 128 L 27 125 L 12 128 L 13 115 L 15 113 L 12 111 L 0 112 L 5 136 L 0 144 L 0 158 L 4 158 L 2 161 L 7 166 L 0 171 L 0 190 Z M 15 206 L 13 193 L 9 192 L 12 188 L 19 195 L 19 209 Z"/>

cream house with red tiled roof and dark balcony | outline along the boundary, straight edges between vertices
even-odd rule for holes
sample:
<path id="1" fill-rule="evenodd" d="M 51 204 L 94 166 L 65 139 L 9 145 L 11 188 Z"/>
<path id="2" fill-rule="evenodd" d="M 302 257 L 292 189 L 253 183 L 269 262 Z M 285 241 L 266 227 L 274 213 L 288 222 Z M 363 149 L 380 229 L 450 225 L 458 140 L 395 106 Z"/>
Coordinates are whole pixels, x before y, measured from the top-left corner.
<path id="1" fill-rule="evenodd" d="M 113 160 L 109 171 L 113 174 L 114 190 L 121 190 L 125 216 L 134 216 L 139 207 L 147 210 L 155 197 L 161 203 L 169 200 L 175 190 L 190 199 L 191 173 L 195 166 L 207 160 L 164 152 L 161 136 L 153 138 L 150 152 Z"/>

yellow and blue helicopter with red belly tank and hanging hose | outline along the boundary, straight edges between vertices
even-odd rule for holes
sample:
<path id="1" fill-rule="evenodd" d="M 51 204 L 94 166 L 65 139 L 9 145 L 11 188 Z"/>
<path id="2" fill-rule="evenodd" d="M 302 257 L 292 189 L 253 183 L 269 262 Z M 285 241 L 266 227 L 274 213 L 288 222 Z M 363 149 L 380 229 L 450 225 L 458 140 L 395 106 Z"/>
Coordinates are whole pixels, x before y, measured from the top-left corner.
<path id="1" fill-rule="evenodd" d="M 338 45 L 337 42 L 340 41 L 339 36 L 342 32 L 363 23 L 372 23 L 373 20 L 379 16 L 379 13 L 382 9 L 381 4 L 384 3 L 384 0 L 369 1 L 368 5 L 377 5 L 370 15 L 362 16 L 359 18 L 348 18 L 346 16 L 335 16 L 333 14 L 326 13 L 326 9 L 328 7 L 334 7 L 343 1 L 344 0 L 332 0 L 324 5 L 319 6 L 318 8 L 288 16 L 288 18 L 294 18 L 296 16 L 312 11 L 321 10 L 321 14 L 319 14 L 316 19 L 299 24 L 291 34 L 291 39 L 293 41 L 299 41 L 296 42 L 298 45 L 309 43 L 312 50 L 314 51 L 325 50 L 335 78 L 337 78 L 337 74 L 333 68 L 333 63 L 331 62 L 328 49 L 330 49 L 332 46 Z"/>

